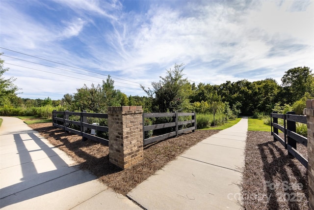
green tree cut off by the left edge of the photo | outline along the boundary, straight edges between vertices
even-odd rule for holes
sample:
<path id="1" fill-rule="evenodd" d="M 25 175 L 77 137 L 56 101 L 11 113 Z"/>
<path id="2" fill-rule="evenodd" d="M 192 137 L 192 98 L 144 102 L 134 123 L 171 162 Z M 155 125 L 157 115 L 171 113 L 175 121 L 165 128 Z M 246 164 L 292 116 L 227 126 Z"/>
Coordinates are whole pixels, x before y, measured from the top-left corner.
<path id="1" fill-rule="evenodd" d="M 0 53 L 0 56 L 2 53 Z M 16 91 L 19 88 L 13 84 L 16 80 L 14 77 L 5 79 L 2 75 L 8 71 L 9 68 L 3 68 L 4 60 L 0 58 L 0 106 L 11 105 L 10 99 L 16 97 Z"/>

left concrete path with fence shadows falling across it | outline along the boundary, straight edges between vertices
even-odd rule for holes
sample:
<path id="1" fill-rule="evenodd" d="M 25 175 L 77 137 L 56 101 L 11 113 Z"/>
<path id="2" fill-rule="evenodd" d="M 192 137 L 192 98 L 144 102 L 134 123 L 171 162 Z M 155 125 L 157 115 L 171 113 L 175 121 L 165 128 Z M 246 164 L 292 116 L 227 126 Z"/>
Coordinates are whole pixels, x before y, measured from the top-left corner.
<path id="1" fill-rule="evenodd" d="M 141 209 L 18 118 L 0 117 L 0 208 Z"/>

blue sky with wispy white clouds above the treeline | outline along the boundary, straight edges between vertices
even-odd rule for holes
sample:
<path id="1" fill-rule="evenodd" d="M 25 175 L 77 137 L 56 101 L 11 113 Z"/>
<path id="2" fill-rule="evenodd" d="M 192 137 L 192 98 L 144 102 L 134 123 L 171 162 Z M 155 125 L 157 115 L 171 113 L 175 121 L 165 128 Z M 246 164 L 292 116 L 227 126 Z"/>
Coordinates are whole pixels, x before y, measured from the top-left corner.
<path id="1" fill-rule="evenodd" d="M 107 75 L 142 96 L 175 63 L 196 84 L 281 84 L 313 69 L 314 1 L 0 0 L 0 47 L 23 98 L 61 99 Z"/>

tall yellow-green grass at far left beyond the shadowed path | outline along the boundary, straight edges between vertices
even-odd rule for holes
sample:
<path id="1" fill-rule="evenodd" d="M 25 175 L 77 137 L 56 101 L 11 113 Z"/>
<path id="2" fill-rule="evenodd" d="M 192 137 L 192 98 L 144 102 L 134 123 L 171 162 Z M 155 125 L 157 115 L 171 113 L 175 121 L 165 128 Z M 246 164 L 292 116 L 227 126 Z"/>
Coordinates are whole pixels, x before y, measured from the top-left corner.
<path id="1" fill-rule="evenodd" d="M 38 118 L 52 119 L 52 111 L 64 111 L 65 107 L 46 105 L 42 107 L 3 107 L 0 108 L 1 116 L 36 116 Z"/>

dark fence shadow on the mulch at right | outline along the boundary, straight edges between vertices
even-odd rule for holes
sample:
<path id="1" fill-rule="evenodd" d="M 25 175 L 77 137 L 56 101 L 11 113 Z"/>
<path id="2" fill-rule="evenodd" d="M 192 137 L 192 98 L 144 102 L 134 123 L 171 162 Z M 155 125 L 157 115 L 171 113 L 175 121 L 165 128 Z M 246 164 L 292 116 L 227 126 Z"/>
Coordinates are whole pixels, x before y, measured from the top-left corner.
<path id="1" fill-rule="evenodd" d="M 267 209 L 278 209 L 278 202 L 285 199 L 288 202 L 289 209 L 298 210 L 299 207 L 295 205 L 295 201 L 290 197 L 290 195 L 297 195 L 298 192 L 295 187 L 291 186 L 296 184 L 295 182 L 302 183 L 302 192 L 308 196 L 307 176 L 303 177 L 301 175 L 300 169 L 279 142 L 265 142 L 259 144 L 258 148 L 262 158 L 264 180 L 268 182 L 268 186 L 266 186 L 267 198 L 269 199 Z M 291 180 L 292 176 L 295 180 Z M 283 181 L 283 183 L 278 184 L 280 186 L 275 184 L 275 179 L 278 179 L 278 177 Z M 282 191 L 281 193 L 276 192 L 278 188 L 283 188 L 280 190 L 284 190 L 285 193 L 283 194 Z"/>

